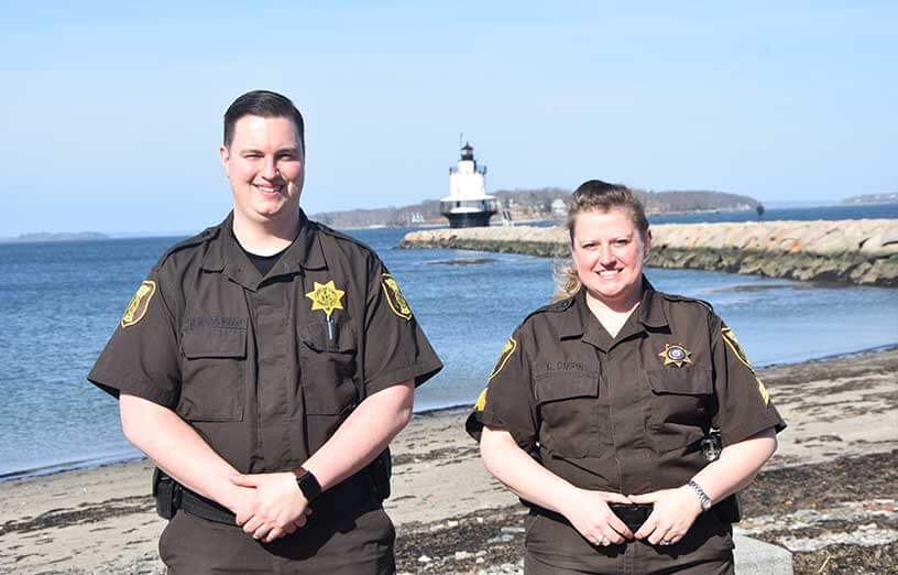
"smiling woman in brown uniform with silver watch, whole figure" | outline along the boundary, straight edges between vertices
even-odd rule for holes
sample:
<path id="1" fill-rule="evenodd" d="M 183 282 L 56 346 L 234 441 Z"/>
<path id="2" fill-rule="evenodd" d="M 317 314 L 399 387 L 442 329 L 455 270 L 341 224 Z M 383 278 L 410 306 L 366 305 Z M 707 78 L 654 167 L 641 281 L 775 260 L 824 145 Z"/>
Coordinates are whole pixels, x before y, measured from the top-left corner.
<path id="1" fill-rule="evenodd" d="M 732 496 L 785 424 L 711 306 L 643 275 L 629 189 L 584 183 L 568 228 L 568 297 L 515 330 L 468 421 L 530 508 L 525 571 L 733 573 Z"/>

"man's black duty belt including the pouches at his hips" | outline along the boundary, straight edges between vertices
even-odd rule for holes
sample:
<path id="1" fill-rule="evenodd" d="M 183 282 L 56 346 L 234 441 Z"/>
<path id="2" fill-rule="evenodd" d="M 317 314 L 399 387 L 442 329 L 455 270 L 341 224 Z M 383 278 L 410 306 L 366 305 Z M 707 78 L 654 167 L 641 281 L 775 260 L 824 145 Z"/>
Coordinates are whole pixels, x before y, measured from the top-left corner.
<path id="1" fill-rule="evenodd" d="M 167 489 L 160 489 L 161 484 L 167 484 Z M 156 498 L 156 510 L 165 519 L 171 519 L 180 509 L 216 523 L 237 524 L 237 518 L 228 508 L 187 489 L 158 469 L 153 475 L 153 497 Z M 368 468 L 328 489 L 309 507 L 313 517 L 333 518 L 364 505 L 370 505 L 371 509 L 381 505 Z"/>

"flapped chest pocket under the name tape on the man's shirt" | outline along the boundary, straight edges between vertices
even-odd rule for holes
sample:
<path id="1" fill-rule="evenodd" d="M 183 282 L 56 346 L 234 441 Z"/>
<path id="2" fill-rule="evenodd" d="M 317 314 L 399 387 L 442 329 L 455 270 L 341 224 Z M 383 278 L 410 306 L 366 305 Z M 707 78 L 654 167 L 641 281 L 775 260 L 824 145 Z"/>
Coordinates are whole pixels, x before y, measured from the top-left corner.
<path id="1" fill-rule="evenodd" d="M 187 421 L 241 421 L 247 329 L 197 327 L 180 337 L 180 402 Z"/>

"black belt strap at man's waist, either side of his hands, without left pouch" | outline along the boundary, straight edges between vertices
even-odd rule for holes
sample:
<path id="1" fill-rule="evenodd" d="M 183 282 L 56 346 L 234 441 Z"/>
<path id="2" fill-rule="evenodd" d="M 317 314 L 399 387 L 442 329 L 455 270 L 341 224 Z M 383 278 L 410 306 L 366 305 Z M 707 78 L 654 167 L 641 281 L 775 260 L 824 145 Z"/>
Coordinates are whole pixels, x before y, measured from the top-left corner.
<path id="1" fill-rule="evenodd" d="M 176 508 L 216 523 L 237 524 L 234 514 L 228 508 L 190 491 L 183 485 L 177 485 L 176 490 L 178 493 L 175 500 Z M 335 518 L 354 511 L 364 503 L 370 503 L 372 509 L 381 505 L 366 468 L 321 493 L 309 507 L 313 517 Z"/>

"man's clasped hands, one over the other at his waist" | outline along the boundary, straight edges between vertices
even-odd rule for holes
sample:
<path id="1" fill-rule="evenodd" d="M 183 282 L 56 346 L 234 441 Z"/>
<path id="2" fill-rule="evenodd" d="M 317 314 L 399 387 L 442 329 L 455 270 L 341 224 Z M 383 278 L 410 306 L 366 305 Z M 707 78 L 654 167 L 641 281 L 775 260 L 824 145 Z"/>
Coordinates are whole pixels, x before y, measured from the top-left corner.
<path id="1" fill-rule="evenodd" d="M 232 475 L 237 524 L 253 539 L 271 543 L 306 524 L 311 508 L 291 471 Z"/>

